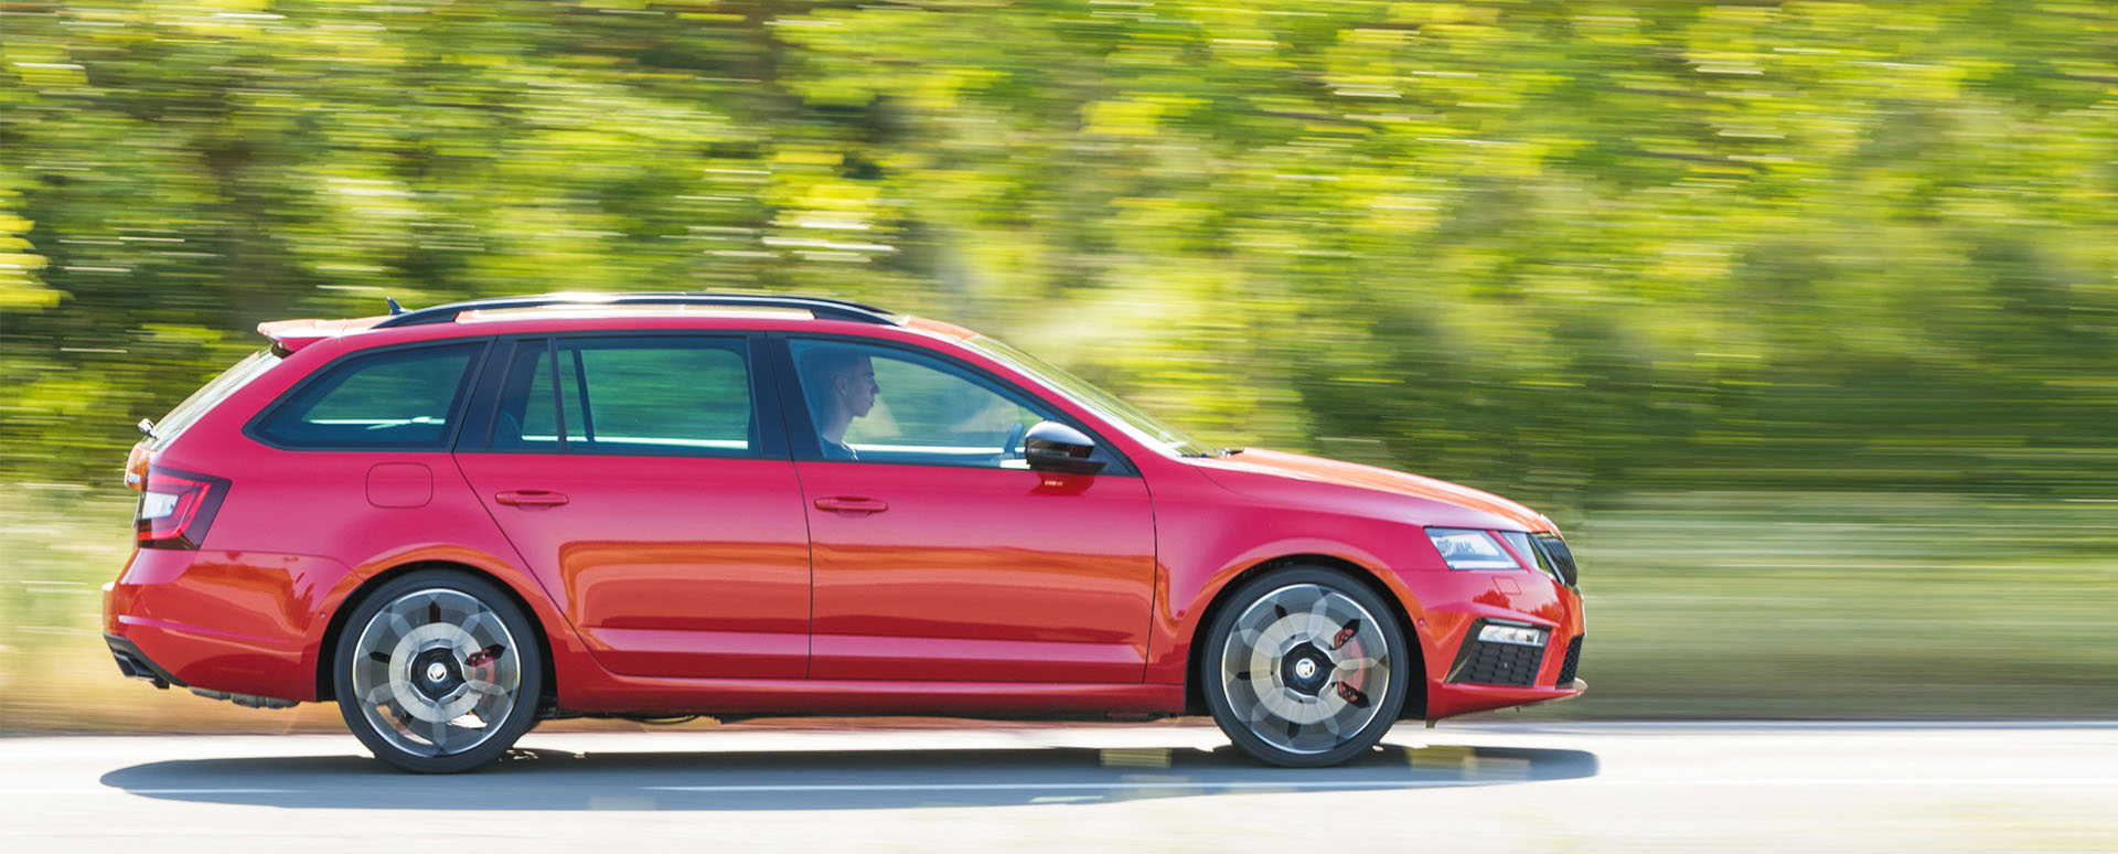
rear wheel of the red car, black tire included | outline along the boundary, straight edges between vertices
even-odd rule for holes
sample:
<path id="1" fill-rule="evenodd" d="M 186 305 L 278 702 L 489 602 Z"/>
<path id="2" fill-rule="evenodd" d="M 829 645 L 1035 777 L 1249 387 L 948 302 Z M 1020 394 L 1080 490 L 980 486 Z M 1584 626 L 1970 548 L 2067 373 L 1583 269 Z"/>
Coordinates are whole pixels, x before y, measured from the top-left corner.
<path id="1" fill-rule="evenodd" d="M 451 570 L 411 572 L 360 600 L 330 661 L 345 727 L 375 759 L 415 773 L 498 759 L 536 723 L 544 689 L 521 608 L 496 583 Z"/>

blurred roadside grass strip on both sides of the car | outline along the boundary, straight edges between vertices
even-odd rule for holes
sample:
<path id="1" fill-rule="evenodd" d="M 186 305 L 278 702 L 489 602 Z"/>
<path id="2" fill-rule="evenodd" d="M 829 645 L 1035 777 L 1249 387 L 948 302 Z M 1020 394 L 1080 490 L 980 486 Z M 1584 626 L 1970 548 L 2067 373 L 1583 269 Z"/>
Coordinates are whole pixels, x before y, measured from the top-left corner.
<path id="1" fill-rule="evenodd" d="M 125 494 L 0 502 L 0 731 L 307 729 L 110 665 Z M 2067 718 L 2118 712 L 2118 502 L 1663 494 L 1572 513 L 1584 699 L 1529 718 Z"/>

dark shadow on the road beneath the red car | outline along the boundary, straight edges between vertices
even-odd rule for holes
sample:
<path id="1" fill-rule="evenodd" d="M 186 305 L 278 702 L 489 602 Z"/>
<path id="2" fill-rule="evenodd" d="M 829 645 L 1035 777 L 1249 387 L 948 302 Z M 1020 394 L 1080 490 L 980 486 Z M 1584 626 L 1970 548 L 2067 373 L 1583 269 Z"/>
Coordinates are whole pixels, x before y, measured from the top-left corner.
<path id="1" fill-rule="evenodd" d="M 513 750 L 466 786 L 373 759 L 256 757 L 133 765 L 131 795 L 318 809 L 896 809 L 1110 803 L 1239 793 L 1502 786 L 1597 773 L 1584 750 L 1381 744 L 1339 767 L 1262 767 L 1233 746 L 563 752 Z"/>

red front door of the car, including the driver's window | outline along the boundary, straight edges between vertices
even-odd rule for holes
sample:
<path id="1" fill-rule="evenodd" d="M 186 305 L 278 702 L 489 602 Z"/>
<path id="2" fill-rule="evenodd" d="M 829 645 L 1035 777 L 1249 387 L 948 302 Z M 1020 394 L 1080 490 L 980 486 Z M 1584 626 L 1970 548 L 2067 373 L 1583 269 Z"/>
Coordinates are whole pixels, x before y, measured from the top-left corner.
<path id="1" fill-rule="evenodd" d="M 841 339 L 784 348 L 811 678 L 1142 680 L 1154 515 L 1137 475 L 1120 460 L 1029 470 L 1021 434 L 1055 411 L 966 364 Z"/>

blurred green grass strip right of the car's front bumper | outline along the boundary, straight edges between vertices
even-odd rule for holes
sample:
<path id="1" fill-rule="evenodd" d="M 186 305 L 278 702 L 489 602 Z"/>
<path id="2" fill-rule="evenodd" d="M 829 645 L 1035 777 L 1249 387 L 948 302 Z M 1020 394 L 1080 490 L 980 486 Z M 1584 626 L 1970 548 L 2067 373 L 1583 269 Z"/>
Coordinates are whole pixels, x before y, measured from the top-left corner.
<path id="1" fill-rule="evenodd" d="M 1641 496 L 1572 545 L 1591 693 L 1527 714 L 2118 712 L 2118 502 Z"/>

